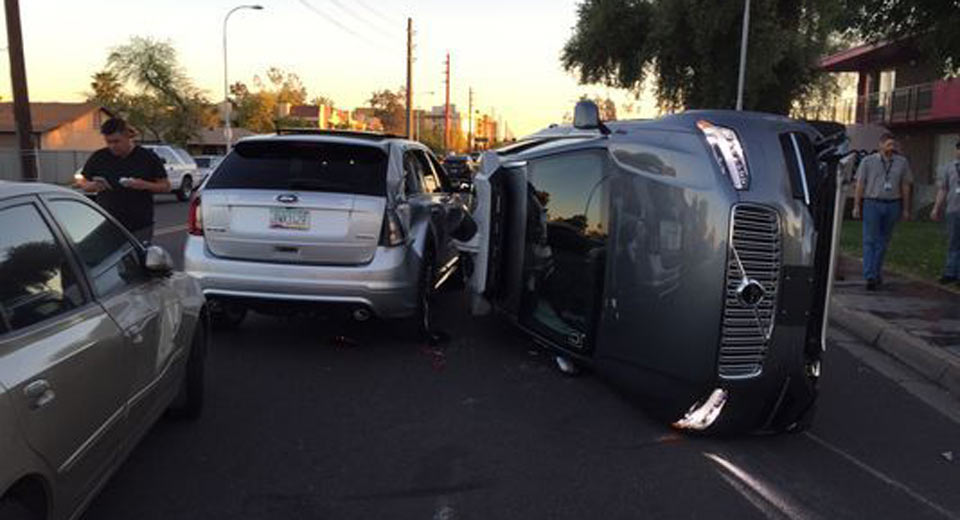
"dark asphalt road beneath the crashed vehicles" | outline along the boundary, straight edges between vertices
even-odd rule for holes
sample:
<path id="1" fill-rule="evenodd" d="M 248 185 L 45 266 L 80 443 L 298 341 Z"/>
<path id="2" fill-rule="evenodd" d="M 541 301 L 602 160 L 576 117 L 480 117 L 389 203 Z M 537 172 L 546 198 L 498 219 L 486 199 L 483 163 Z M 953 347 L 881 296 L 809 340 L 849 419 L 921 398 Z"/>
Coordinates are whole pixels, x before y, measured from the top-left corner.
<path id="1" fill-rule="evenodd" d="M 157 242 L 179 257 L 182 234 Z M 460 295 L 441 319 L 440 347 L 385 323 L 220 334 L 203 418 L 158 423 L 84 519 L 960 518 L 960 403 L 842 331 L 808 432 L 715 439 Z"/>

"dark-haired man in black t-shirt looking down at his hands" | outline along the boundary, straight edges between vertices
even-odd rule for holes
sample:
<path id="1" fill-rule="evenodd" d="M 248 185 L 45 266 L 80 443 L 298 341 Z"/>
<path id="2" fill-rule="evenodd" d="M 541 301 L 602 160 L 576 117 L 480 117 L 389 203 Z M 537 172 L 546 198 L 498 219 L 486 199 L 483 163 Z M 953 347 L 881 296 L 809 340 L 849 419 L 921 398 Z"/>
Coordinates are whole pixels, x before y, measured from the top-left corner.
<path id="1" fill-rule="evenodd" d="M 103 123 L 100 133 L 107 147 L 90 156 L 78 185 L 87 193 L 96 193 L 97 203 L 137 239 L 149 242 L 153 239 L 153 194 L 170 191 L 163 161 L 133 142 L 133 131 L 123 119 Z"/>

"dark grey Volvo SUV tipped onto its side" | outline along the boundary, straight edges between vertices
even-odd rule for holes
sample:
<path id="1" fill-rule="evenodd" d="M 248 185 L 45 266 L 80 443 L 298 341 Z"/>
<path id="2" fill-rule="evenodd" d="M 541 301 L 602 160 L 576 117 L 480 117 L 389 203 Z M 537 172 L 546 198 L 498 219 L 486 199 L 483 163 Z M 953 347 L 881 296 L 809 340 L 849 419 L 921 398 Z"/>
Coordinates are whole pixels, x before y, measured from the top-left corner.
<path id="1" fill-rule="evenodd" d="M 817 397 L 846 137 L 687 112 L 487 152 L 460 244 L 472 311 L 513 318 L 681 429 L 789 431 Z"/>

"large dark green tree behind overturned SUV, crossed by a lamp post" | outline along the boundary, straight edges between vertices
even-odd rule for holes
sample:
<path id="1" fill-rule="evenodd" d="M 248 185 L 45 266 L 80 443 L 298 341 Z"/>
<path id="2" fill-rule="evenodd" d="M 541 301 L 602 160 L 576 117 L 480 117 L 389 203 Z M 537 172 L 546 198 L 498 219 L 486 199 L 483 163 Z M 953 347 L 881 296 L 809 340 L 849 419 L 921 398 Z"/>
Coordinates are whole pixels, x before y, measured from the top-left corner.
<path id="1" fill-rule="evenodd" d="M 753 0 L 744 104 L 788 113 L 819 76 L 841 21 L 835 0 Z M 561 62 L 581 83 L 639 94 L 648 75 L 665 109 L 733 108 L 743 2 L 583 0 Z"/>

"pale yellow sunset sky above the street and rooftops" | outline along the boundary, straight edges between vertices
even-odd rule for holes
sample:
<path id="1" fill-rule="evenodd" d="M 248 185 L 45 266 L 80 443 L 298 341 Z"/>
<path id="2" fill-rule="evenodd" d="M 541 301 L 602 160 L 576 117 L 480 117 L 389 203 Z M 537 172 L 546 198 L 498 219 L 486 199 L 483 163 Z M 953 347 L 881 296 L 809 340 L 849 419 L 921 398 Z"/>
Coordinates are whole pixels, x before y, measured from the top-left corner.
<path id="1" fill-rule="evenodd" d="M 21 18 L 31 100 L 80 101 L 111 47 L 131 36 L 169 40 L 187 74 L 211 100 L 223 98 L 221 27 L 234 0 L 28 0 Z M 254 3 L 254 2 L 251 2 Z M 451 101 L 496 111 L 516 135 L 559 122 L 582 94 L 609 95 L 620 116 L 650 117 L 647 98 L 580 86 L 559 56 L 576 22 L 577 0 L 261 0 L 262 11 L 230 18 L 230 82 L 271 67 L 295 72 L 312 97 L 341 107 L 366 103 L 377 89 L 405 82 L 406 17 L 416 30 L 415 105 L 443 103 L 443 60 L 451 54 Z M 5 30 L 5 27 L 4 27 Z M 5 33 L 4 33 L 5 34 Z M 5 45 L 4 45 L 5 47 Z M 0 62 L 0 96 L 11 99 Z M 430 94 L 433 92 L 433 94 Z M 626 103 L 635 103 L 626 113 Z"/>

